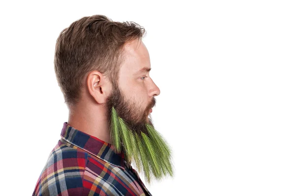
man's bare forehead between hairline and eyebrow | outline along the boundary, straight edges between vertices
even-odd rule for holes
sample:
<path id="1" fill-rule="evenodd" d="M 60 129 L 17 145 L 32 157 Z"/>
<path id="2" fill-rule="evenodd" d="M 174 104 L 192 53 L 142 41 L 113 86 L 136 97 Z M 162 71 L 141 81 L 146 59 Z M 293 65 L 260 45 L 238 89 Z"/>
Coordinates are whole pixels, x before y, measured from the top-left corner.
<path id="1" fill-rule="evenodd" d="M 121 72 L 134 74 L 144 67 L 150 68 L 148 49 L 141 40 L 126 43 L 123 51 L 125 61 L 121 65 Z"/>

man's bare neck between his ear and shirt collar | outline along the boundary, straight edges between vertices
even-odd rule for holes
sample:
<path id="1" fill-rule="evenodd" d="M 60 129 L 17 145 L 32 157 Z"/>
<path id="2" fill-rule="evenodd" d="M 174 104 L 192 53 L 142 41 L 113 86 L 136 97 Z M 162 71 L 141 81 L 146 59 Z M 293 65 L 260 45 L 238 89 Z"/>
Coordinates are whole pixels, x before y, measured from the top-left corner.
<path id="1" fill-rule="evenodd" d="M 102 104 L 83 104 L 80 102 L 75 109 L 69 110 L 68 124 L 104 142 L 110 143 L 106 107 Z"/>

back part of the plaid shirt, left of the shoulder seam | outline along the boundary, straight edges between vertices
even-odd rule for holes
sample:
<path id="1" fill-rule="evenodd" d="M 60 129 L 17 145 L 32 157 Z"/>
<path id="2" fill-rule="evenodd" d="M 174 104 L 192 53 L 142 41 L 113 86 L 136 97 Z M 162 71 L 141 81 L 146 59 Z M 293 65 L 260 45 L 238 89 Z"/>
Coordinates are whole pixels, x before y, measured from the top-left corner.
<path id="1" fill-rule="evenodd" d="M 82 196 L 88 156 L 88 152 L 59 141 L 38 178 L 33 196 L 57 196 L 61 193 Z"/>

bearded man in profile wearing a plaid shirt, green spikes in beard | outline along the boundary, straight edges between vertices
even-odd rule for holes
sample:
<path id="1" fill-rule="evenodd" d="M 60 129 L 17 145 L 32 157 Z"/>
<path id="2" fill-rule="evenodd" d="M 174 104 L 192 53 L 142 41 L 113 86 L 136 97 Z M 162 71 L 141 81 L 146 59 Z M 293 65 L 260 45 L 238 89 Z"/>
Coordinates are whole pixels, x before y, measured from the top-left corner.
<path id="1" fill-rule="evenodd" d="M 84 17 L 59 34 L 54 68 L 69 108 L 34 196 L 144 196 L 173 176 L 171 150 L 149 118 L 160 89 L 149 76 L 145 29 Z"/>

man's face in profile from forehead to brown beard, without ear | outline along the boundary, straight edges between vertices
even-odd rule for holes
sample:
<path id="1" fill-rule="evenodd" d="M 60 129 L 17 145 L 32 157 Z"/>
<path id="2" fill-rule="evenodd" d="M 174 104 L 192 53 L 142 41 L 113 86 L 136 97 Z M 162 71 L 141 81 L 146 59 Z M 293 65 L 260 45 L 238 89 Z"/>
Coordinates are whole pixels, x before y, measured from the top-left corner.
<path id="1" fill-rule="evenodd" d="M 146 132 L 145 123 L 152 125 L 148 116 L 160 89 L 149 76 L 150 60 L 144 43 L 134 40 L 124 47 L 124 51 L 125 61 L 119 71 L 118 86 L 113 86 L 107 100 L 108 111 L 114 106 L 118 116 L 131 129 Z"/>

